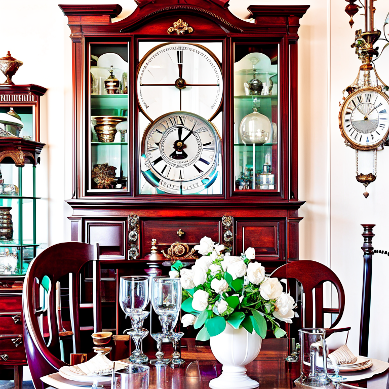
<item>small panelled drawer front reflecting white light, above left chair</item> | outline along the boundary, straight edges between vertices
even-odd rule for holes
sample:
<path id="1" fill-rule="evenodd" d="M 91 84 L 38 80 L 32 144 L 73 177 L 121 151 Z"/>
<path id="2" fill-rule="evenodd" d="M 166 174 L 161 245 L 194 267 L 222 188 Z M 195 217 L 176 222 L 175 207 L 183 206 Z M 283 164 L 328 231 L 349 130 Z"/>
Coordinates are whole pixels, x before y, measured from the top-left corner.
<path id="1" fill-rule="evenodd" d="M 86 243 L 99 244 L 100 259 L 127 259 L 126 222 L 86 220 Z"/>

